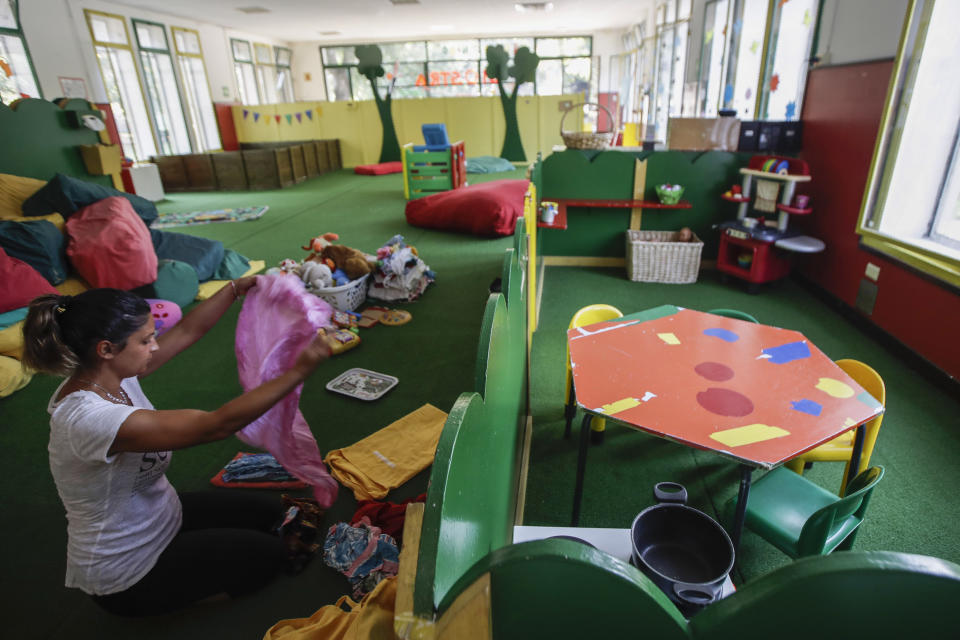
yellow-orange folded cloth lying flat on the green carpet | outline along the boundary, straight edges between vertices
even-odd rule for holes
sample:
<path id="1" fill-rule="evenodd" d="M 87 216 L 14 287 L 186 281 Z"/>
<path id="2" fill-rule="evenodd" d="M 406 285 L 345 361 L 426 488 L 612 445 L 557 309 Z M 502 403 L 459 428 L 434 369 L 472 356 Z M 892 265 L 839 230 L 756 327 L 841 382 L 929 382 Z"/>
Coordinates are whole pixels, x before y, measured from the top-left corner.
<path id="1" fill-rule="evenodd" d="M 330 474 L 357 500 L 379 500 L 433 464 L 447 414 L 425 404 L 363 440 L 327 454 Z"/>

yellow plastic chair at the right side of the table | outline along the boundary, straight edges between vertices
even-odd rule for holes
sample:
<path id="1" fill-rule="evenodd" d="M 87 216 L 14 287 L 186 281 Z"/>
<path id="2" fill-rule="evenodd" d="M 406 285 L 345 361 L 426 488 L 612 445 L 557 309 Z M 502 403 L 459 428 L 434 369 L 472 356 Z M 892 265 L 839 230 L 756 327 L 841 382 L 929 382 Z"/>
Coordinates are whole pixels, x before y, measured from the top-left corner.
<path id="1" fill-rule="evenodd" d="M 883 378 L 874 371 L 869 365 L 859 360 L 837 360 L 837 366 L 853 378 L 857 384 L 866 389 L 867 393 L 872 395 L 877 402 L 886 406 L 887 392 L 883 385 Z M 873 447 L 877 443 L 877 434 L 880 433 L 880 423 L 883 421 L 881 413 L 864 427 L 863 451 L 860 453 L 860 464 L 857 469 L 850 472 L 850 456 L 853 454 L 853 442 L 857 430 L 851 429 L 829 442 L 825 442 L 816 449 L 811 449 L 806 453 L 797 456 L 786 463 L 786 467 L 791 471 L 803 474 L 804 465 L 813 462 L 846 462 L 847 468 L 843 471 L 843 484 L 840 485 L 840 495 L 845 495 L 844 487 L 848 480 L 866 469 L 870 464 L 870 455 L 873 453 Z"/>

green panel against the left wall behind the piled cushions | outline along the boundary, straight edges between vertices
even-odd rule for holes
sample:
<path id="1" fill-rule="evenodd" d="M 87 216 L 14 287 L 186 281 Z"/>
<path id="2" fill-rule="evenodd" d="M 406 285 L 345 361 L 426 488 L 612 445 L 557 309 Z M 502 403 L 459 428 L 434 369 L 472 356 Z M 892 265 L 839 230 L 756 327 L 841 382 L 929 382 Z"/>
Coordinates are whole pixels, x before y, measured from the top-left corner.
<path id="1" fill-rule="evenodd" d="M 65 173 L 106 186 L 110 176 L 87 173 L 80 145 L 98 144 L 99 135 L 80 123 L 81 115 L 100 115 L 86 100 L 58 104 L 37 98 L 0 103 L 0 173 L 49 180 Z"/>

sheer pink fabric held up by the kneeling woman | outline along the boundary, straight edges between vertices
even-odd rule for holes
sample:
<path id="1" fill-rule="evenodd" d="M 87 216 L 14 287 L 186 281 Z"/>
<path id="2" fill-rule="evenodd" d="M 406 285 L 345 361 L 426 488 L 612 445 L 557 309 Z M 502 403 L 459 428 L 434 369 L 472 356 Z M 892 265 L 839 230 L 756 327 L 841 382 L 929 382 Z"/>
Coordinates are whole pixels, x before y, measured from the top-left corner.
<path id="1" fill-rule="evenodd" d="M 259 276 L 249 290 L 237 321 L 237 368 L 240 384 L 249 391 L 289 369 L 301 349 L 329 327 L 332 309 L 307 293 L 299 278 Z M 298 385 L 237 437 L 266 449 L 287 471 L 310 484 L 320 506 L 337 498 L 337 481 L 327 472 L 310 426 L 300 413 Z"/>

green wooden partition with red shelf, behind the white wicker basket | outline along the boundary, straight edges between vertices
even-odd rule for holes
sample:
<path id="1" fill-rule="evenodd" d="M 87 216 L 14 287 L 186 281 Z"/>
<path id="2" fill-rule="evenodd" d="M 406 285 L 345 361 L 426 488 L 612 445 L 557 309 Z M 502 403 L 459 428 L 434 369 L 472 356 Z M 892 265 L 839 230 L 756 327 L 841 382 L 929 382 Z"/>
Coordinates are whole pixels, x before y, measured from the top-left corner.
<path id="1" fill-rule="evenodd" d="M 720 194 L 740 184 L 740 168 L 753 154 L 729 151 L 588 151 L 568 149 L 543 161 L 542 200 L 633 199 L 636 161 L 645 160 L 644 200 L 656 201 L 658 184 L 681 184 L 691 209 L 644 209 L 642 229 L 690 227 L 704 241 L 704 258 L 714 258 L 719 235 L 713 225 L 736 217 L 736 205 Z M 544 229 L 544 256 L 623 257 L 630 209 L 574 207 L 567 229 Z"/>

